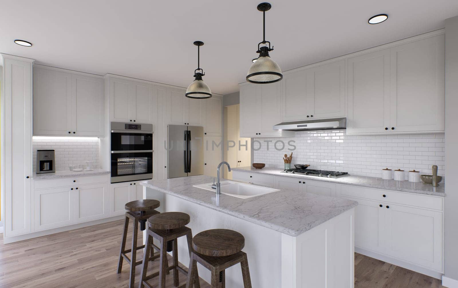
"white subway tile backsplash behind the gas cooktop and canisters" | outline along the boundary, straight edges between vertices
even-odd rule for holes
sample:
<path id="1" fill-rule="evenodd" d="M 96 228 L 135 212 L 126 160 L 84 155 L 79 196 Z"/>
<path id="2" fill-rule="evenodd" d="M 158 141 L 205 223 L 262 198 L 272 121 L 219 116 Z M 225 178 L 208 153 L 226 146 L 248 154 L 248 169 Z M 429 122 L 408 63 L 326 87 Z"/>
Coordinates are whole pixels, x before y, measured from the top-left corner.
<path id="1" fill-rule="evenodd" d="M 293 138 L 256 138 L 253 144 L 254 163 L 284 168 L 283 156 L 293 152 L 292 164 L 310 164 L 310 168 L 346 171 L 352 175 L 382 177 L 381 169 L 412 169 L 431 174 L 431 165 L 438 165 L 444 175 L 444 134 L 406 134 L 347 136 L 343 130 L 298 131 Z M 267 143 L 270 142 L 267 150 Z M 282 140 L 285 148 L 278 151 L 274 143 Z M 296 149 L 288 145 L 294 140 Z M 280 143 L 278 148 L 282 148 Z M 406 173 L 408 179 L 408 173 Z"/>

